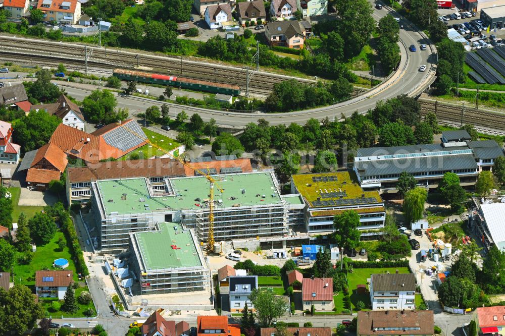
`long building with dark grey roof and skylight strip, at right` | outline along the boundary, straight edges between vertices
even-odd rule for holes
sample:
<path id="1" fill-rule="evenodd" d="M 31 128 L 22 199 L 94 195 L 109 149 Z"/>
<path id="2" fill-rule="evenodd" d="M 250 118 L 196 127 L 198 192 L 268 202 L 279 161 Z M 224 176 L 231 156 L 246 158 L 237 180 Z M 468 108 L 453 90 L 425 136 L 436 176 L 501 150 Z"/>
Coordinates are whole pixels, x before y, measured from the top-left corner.
<path id="1" fill-rule="evenodd" d="M 397 192 L 402 172 L 429 188 L 438 187 L 445 173 L 456 173 L 464 187 L 475 185 L 479 172 L 490 170 L 498 156 L 503 150 L 494 140 L 371 147 L 358 149 L 353 169 L 363 188 L 382 193 Z"/>

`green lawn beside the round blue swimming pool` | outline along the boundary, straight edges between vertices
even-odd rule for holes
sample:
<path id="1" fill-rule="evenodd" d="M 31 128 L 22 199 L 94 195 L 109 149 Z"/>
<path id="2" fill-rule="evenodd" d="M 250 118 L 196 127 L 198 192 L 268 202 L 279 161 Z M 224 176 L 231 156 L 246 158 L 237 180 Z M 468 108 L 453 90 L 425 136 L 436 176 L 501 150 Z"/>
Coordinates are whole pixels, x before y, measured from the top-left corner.
<path id="1" fill-rule="evenodd" d="M 58 247 L 58 239 L 64 237 L 62 232 L 57 232 L 51 242 L 44 246 L 37 246 L 37 251 L 33 253 L 33 259 L 28 265 L 16 263 L 14 265 L 14 283 L 28 287 L 35 286 L 35 271 L 41 269 L 56 269 L 53 268 L 53 262 L 58 258 L 65 258 L 69 261 L 69 266 L 66 269 L 71 269 L 74 274 L 74 281 L 78 281 L 75 264 L 72 261 L 68 246 L 60 252 Z M 64 237 L 65 239 L 65 237 Z"/>

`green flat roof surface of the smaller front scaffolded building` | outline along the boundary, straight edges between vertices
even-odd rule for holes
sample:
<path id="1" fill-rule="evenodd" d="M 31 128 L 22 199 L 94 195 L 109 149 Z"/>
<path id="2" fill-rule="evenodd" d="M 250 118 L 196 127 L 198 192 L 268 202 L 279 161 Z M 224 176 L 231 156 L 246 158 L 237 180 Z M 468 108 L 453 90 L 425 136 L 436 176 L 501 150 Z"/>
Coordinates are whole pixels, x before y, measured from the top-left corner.
<path id="1" fill-rule="evenodd" d="M 201 266 L 189 230 L 176 223 L 159 223 L 160 231 L 136 232 L 140 256 L 146 270 Z M 177 234 L 174 230 L 177 227 Z M 180 249 L 172 249 L 176 245 Z"/>

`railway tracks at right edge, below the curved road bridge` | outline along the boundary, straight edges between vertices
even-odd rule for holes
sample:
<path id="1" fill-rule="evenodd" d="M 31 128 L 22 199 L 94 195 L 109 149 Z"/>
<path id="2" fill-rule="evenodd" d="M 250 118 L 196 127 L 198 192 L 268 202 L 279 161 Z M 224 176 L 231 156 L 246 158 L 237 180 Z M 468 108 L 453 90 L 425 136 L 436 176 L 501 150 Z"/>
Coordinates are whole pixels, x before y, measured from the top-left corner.
<path id="1" fill-rule="evenodd" d="M 424 98 L 418 101 L 421 103 L 421 114 L 424 116 L 433 112 L 439 123 L 455 127 L 470 124 L 485 133 L 505 135 L 505 114 L 503 113 L 428 101 Z"/>

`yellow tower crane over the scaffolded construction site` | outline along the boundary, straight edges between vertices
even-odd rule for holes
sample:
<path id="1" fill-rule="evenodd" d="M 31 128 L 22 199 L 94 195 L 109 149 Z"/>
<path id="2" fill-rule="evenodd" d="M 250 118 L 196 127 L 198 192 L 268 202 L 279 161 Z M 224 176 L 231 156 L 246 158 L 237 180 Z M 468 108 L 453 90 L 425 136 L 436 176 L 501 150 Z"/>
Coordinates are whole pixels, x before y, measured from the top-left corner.
<path id="1" fill-rule="evenodd" d="M 209 183 L 210 183 L 210 189 L 209 189 L 209 235 L 207 237 L 207 248 L 210 251 L 214 251 L 214 243 L 215 243 L 214 242 L 214 185 L 216 185 L 216 187 L 218 188 L 218 190 L 221 193 L 224 192 L 224 189 L 219 186 L 218 180 L 215 179 L 215 178 L 213 178 L 212 176 L 210 176 L 208 173 L 206 173 L 206 172 L 204 172 L 202 170 L 196 169 L 196 168 L 192 167 L 190 164 L 187 164 L 181 158 L 180 155 L 177 155 L 177 156 L 172 155 L 165 148 L 162 148 L 162 147 L 158 146 L 157 144 L 155 144 L 153 142 L 150 142 L 148 138 L 144 138 L 144 137 L 140 136 L 135 131 L 129 129 L 128 127 L 125 127 L 124 124 L 121 124 L 120 126 L 123 127 L 126 131 L 128 131 L 131 134 L 135 135 L 137 138 L 141 139 L 142 141 L 145 141 L 147 144 L 155 147 L 159 151 L 164 152 L 165 154 L 167 154 L 168 156 L 170 156 L 170 158 L 173 158 L 173 159 L 179 161 L 181 164 L 183 164 L 184 166 L 188 167 L 189 169 L 191 169 L 195 173 L 198 173 L 201 176 L 204 176 L 207 179 L 207 181 L 209 181 Z"/>

